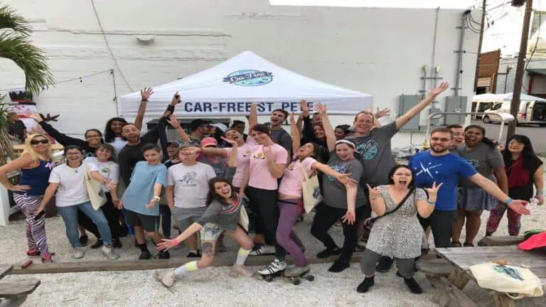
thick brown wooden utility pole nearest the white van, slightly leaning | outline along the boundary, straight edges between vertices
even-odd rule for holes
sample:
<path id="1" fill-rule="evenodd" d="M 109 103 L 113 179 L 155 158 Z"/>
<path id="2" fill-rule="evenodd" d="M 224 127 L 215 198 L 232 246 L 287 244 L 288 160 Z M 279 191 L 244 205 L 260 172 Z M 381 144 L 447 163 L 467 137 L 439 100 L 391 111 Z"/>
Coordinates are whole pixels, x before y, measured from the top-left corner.
<path id="1" fill-rule="evenodd" d="M 521 31 L 520 53 L 518 53 L 518 66 L 515 68 L 514 92 L 510 103 L 510 114 L 516 119 L 508 124 L 506 139 L 515 134 L 515 124 L 518 119 L 520 108 L 521 88 L 523 87 L 523 73 L 525 72 L 525 56 L 527 55 L 527 42 L 529 41 L 529 23 L 531 20 L 532 0 L 525 4 L 525 16 L 523 16 L 523 29 Z"/>

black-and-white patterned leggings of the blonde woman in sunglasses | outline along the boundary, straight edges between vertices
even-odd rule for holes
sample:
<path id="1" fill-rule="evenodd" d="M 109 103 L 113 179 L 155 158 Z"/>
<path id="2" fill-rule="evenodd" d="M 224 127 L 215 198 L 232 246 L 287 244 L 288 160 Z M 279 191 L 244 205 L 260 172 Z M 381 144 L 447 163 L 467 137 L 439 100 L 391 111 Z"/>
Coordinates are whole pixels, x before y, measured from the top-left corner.
<path id="1" fill-rule="evenodd" d="M 26 220 L 26 239 L 29 250 L 40 251 L 42 257 L 49 253 L 48 242 L 45 239 L 45 215 L 34 220 L 34 212 L 40 207 L 42 195 L 23 195 L 14 193 L 17 208 L 21 209 Z"/>

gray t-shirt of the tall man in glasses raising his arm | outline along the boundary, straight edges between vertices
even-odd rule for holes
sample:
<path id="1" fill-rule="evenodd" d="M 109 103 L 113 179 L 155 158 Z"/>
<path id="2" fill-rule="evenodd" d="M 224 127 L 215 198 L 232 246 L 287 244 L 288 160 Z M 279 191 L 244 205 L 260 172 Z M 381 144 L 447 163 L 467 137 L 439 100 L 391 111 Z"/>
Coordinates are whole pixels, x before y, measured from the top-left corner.
<path id="1" fill-rule="evenodd" d="M 356 145 L 356 151 L 362 155 L 364 173 L 363 183 L 372 186 L 385 185 L 389 182 L 389 172 L 395 166 L 390 139 L 398 132 L 396 122 L 380 128 L 374 128 L 368 136 L 349 136 L 347 139 Z"/>

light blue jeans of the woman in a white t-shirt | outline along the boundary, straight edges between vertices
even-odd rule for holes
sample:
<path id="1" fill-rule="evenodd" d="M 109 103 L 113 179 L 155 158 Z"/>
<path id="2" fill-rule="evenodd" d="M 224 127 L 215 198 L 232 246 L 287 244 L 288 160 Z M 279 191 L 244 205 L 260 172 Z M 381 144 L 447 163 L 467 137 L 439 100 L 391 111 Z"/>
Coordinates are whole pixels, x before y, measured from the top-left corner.
<path id="1" fill-rule="evenodd" d="M 95 211 L 91 206 L 91 203 L 86 202 L 68 207 L 57 207 L 57 211 L 65 222 L 66 237 L 68 237 L 68 241 L 72 244 L 72 247 L 80 247 L 80 233 L 77 232 L 77 210 L 85 213 L 85 215 L 97 225 L 100 237 L 102 237 L 102 242 L 104 242 L 105 245 L 112 244 L 110 227 L 108 226 L 108 221 L 102 213 L 102 210 Z"/>

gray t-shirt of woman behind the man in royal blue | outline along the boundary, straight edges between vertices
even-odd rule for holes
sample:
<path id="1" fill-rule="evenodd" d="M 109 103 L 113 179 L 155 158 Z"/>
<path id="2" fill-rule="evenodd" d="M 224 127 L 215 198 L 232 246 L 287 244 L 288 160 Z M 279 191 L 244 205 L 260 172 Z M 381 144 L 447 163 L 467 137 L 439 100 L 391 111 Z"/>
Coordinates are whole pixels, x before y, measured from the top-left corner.
<path id="1" fill-rule="evenodd" d="M 466 158 L 481 176 L 493 182 L 496 182 L 496 178 L 493 176 L 493 168 L 504 167 L 501 151 L 483 142 L 478 143 L 472 150 L 467 149 L 466 145 L 462 144 L 457 148 L 457 153 L 461 158 Z M 465 188 L 478 188 L 478 185 L 468 180 L 461 181 L 461 185 Z"/>

